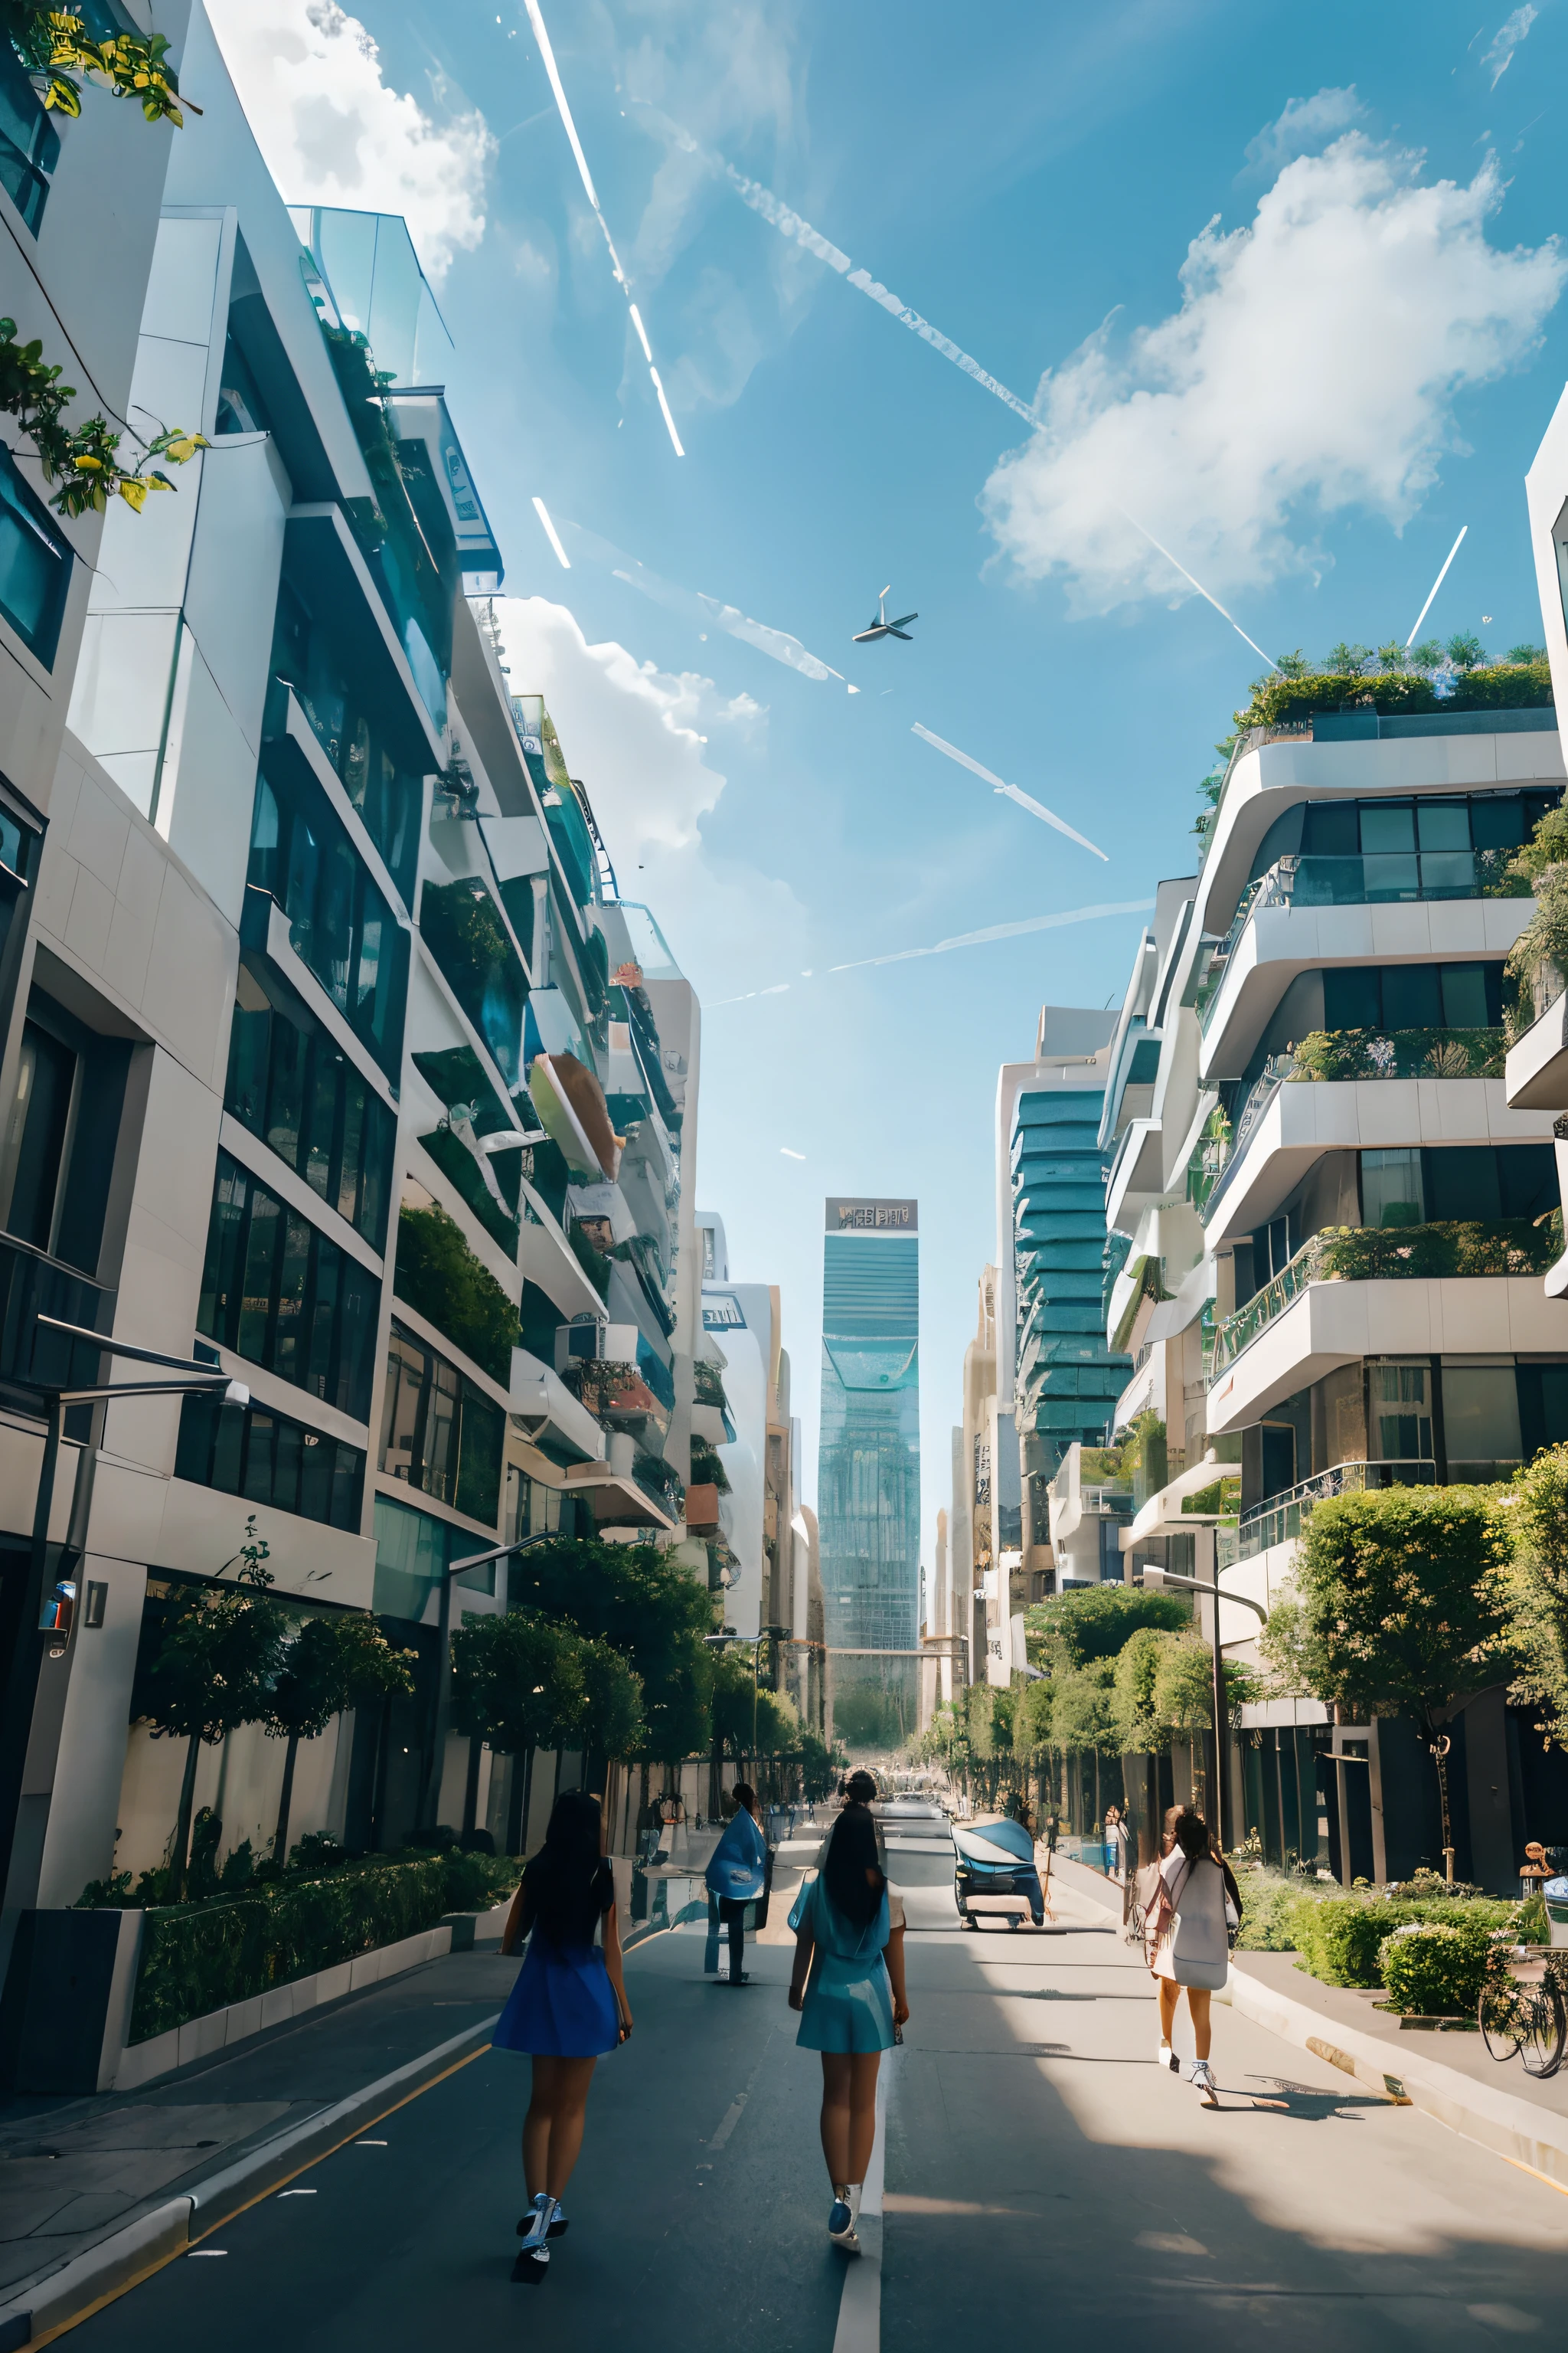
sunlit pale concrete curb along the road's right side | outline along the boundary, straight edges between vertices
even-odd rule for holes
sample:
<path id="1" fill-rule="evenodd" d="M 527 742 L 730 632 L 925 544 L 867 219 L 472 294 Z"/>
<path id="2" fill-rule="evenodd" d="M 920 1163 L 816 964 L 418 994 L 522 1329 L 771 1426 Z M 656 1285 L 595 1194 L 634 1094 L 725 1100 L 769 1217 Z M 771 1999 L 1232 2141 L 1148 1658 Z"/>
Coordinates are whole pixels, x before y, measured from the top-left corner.
<path id="1" fill-rule="evenodd" d="M 1079 1864 L 1079 1868 L 1084 1866 Z M 1081 1904 L 1093 1904 L 1107 1920 L 1114 1920 L 1117 1927 L 1121 1925 L 1119 1913 L 1098 1904 L 1084 1887 L 1074 1887 L 1072 1892 Z M 1316 2059 L 1345 2068 L 1347 2075 L 1354 2075 L 1356 2082 L 1366 2085 L 1380 2099 L 1420 2108 L 1422 2115 L 1448 2125 L 1460 2139 L 1476 2141 L 1481 2148 L 1490 2148 L 1493 2155 L 1509 2158 L 1514 2165 L 1526 2165 L 1530 2172 L 1544 2174 L 1547 2181 L 1568 2191 L 1568 2115 L 1537 2108 L 1535 2101 L 1519 2099 L 1514 2092 L 1495 2092 L 1490 2085 L 1476 2082 L 1472 2075 L 1462 2075 L 1458 2068 L 1443 2066 L 1441 2059 L 1429 2059 L 1420 2049 L 1392 2049 L 1359 2026 L 1342 2026 L 1338 2019 L 1326 2019 L 1319 2009 L 1293 2002 L 1288 1993 L 1267 1986 L 1260 1977 L 1251 1977 L 1244 1953 L 1232 1953 L 1229 1984 L 1215 2000 L 1229 2002 L 1232 2009 L 1239 2009 L 1255 2026 L 1267 2026 L 1281 2042 L 1293 2042 L 1295 2049 L 1312 2052 Z"/>

